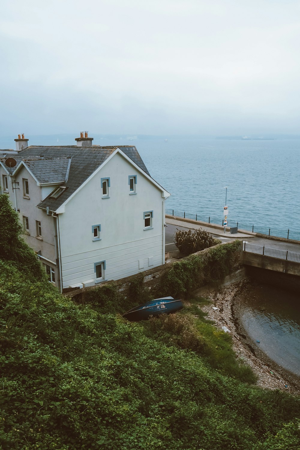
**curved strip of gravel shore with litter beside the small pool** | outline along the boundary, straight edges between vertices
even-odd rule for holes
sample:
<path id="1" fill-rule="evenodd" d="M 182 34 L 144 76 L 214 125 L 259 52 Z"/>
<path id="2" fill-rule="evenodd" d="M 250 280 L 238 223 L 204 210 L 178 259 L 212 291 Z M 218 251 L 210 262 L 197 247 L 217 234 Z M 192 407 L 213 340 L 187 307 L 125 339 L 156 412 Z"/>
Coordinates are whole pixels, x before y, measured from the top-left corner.
<path id="1" fill-rule="evenodd" d="M 217 328 L 226 327 L 233 338 L 233 349 L 237 357 L 251 366 L 257 375 L 257 386 L 267 389 L 280 389 L 291 394 L 300 395 L 300 378 L 271 360 L 263 351 L 256 348 L 246 335 L 239 320 L 236 296 L 241 292 L 247 279 L 223 286 L 218 291 L 206 293 L 205 297 L 211 303 L 201 306 L 207 313 L 207 319 L 212 320 Z M 213 307 L 218 309 L 213 309 Z M 286 387 L 287 386 L 287 387 Z"/>

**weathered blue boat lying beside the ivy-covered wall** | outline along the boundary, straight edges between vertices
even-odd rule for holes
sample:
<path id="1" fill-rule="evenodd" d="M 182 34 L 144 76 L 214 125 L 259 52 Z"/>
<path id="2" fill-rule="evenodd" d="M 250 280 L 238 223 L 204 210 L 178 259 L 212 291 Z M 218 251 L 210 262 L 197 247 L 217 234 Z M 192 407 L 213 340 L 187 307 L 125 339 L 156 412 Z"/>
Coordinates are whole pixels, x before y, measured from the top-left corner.
<path id="1" fill-rule="evenodd" d="M 157 317 L 160 314 L 173 314 L 184 307 L 182 300 L 173 297 L 162 297 L 135 306 L 123 314 L 123 317 L 131 322 L 147 320 L 150 315 Z"/>

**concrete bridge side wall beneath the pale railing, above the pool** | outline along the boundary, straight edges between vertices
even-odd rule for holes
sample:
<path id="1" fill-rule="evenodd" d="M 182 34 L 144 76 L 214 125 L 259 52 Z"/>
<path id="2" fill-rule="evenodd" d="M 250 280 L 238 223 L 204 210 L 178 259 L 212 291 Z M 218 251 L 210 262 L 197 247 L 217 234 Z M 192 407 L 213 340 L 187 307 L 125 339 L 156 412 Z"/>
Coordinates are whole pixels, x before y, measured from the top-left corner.
<path id="1" fill-rule="evenodd" d="M 246 266 L 260 267 L 290 275 L 300 276 L 300 263 L 284 259 L 272 258 L 256 253 L 242 252 L 242 264 Z"/>

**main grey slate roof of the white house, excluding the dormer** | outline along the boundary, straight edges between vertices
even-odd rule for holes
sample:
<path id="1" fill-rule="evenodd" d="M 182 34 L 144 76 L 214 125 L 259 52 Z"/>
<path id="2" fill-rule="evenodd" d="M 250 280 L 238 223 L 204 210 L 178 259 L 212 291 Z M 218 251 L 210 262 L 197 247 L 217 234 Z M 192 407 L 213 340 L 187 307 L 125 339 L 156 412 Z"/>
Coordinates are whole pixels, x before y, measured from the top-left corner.
<path id="1" fill-rule="evenodd" d="M 147 167 L 139 156 L 137 149 L 133 145 L 129 146 L 108 146 L 101 147 L 93 145 L 91 147 L 78 147 L 77 145 L 66 146 L 36 146 L 31 145 L 18 153 L 18 158 L 28 160 L 31 158 L 44 157 L 49 162 L 49 158 L 72 158 L 66 189 L 58 198 L 51 198 L 49 194 L 37 207 L 49 207 L 50 211 L 56 211 L 67 198 L 116 150 L 120 148 L 130 159 L 135 162 L 147 175 L 150 176 Z M 41 160 L 40 160 L 41 161 Z M 40 162 L 39 161 L 39 162 Z"/>

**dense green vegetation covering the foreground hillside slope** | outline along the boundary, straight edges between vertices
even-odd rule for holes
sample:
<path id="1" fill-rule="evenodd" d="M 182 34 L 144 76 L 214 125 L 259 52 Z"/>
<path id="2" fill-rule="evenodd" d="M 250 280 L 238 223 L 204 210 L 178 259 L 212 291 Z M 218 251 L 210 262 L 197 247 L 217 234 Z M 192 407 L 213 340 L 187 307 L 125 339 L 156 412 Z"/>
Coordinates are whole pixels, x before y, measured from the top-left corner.
<path id="1" fill-rule="evenodd" d="M 1 449 L 299 449 L 299 398 L 253 386 L 193 305 L 144 323 L 125 321 L 116 295 L 76 305 L 45 278 L 5 195 L 0 233 Z"/>

